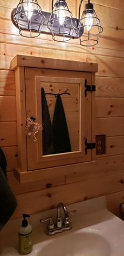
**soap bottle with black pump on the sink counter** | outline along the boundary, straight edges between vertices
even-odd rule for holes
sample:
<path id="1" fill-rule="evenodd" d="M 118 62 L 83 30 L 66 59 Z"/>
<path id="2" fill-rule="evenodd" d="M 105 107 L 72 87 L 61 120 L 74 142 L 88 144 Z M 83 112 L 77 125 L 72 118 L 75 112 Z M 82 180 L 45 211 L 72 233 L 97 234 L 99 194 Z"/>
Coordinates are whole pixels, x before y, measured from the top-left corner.
<path id="1" fill-rule="evenodd" d="M 28 254 L 32 252 L 32 226 L 28 224 L 26 217 L 28 214 L 23 214 L 22 226 L 18 231 L 18 249 L 20 254 Z"/>

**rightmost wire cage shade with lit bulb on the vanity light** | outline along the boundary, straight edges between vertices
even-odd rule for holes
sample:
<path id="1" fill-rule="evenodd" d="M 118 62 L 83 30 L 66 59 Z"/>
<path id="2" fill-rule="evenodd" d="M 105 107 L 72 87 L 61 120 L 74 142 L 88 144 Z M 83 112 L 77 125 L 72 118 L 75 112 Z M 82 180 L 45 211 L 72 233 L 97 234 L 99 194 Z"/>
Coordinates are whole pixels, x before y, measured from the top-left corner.
<path id="1" fill-rule="evenodd" d="M 78 34 L 82 28 L 84 28 L 84 33 L 79 36 L 80 45 L 93 46 L 97 44 L 103 29 L 94 10 L 94 6 L 89 1 L 88 4 L 86 4 L 86 9 L 81 15 L 81 19 L 79 19 Z"/>

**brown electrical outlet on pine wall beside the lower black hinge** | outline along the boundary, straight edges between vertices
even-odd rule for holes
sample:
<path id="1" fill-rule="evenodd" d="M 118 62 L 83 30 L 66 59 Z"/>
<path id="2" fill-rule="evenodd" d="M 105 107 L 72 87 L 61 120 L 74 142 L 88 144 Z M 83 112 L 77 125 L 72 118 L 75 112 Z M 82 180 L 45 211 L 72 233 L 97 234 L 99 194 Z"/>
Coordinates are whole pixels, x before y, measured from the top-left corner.
<path id="1" fill-rule="evenodd" d="M 106 135 L 96 135 L 96 154 L 106 153 Z"/>

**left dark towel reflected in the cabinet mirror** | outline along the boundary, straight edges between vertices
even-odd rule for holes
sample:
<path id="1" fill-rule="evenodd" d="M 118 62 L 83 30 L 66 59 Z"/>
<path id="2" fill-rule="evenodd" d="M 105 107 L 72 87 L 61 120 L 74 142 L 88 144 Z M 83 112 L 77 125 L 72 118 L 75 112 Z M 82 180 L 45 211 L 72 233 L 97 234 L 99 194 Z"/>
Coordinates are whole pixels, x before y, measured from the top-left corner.
<path id="1" fill-rule="evenodd" d="M 42 125 L 43 125 L 43 155 L 53 154 L 53 132 L 51 127 L 51 120 L 49 115 L 49 109 L 47 105 L 47 100 L 44 92 L 42 90 Z"/>

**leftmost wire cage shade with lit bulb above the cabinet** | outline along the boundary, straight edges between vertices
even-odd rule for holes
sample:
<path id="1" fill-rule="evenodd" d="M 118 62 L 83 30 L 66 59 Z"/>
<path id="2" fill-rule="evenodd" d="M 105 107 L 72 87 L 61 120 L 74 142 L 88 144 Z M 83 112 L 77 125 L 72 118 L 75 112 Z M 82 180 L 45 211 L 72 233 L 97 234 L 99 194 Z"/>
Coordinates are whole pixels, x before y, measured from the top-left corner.
<path id="1" fill-rule="evenodd" d="M 37 0 L 20 0 L 12 12 L 12 20 L 16 23 L 20 35 L 35 38 L 42 30 L 45 17 Z"/>

